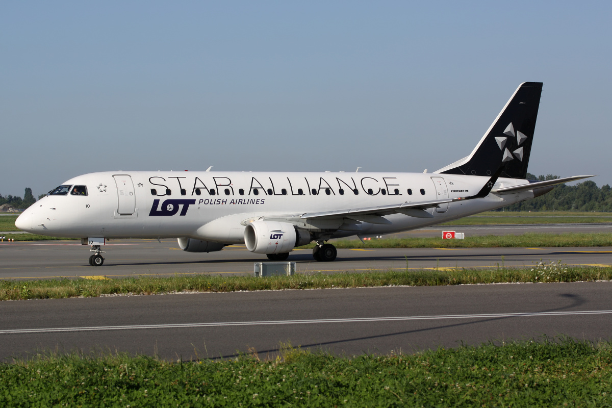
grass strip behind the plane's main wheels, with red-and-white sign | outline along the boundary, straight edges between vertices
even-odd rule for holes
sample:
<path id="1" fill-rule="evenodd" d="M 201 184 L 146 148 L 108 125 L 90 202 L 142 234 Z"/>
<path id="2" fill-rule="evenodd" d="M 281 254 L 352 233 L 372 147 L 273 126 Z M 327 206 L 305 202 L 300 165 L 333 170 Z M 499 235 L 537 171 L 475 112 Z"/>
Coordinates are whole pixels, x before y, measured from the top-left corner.
<path id="1" fill-rule="evenodd" d="M 441 234 L 440 234 L 441 235 Z M 466 239 L 390 238 L 360 240 L 334 240 L 336 248 L 529 248 L 529 247 L 610 247 L 612 233 L 564 232 L 541 234 L 528 232 L 523 235 L 476 236 Z M 313 248 L 310 243 L 300 248 Z"/>

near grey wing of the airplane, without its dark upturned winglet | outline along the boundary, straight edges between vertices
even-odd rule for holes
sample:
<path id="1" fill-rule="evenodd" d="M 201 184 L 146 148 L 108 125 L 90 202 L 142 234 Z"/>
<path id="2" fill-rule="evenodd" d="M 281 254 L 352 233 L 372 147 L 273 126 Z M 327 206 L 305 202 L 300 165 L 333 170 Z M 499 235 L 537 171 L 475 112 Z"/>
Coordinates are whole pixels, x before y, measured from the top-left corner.
<path id="1" fill-rule="evenodd" d="M 447 198 L 433 201 L 403 202 L 401 204 L 391 204 L 389 206 L 307 212 L 302 214 L 300 218 L 304 220 L 332 220 L 335 218 L 350 218 L 352 220 L 365 221 L 373 224 L 390 224 L 390 221 L 382 217 L 383 215 L 402 213 L 409 215 L 410 217 L 433 218 L 433 215 L 426 212 L 425 209 L 438 207 L 440 204 L 452 201 L 452 198 Z"/>

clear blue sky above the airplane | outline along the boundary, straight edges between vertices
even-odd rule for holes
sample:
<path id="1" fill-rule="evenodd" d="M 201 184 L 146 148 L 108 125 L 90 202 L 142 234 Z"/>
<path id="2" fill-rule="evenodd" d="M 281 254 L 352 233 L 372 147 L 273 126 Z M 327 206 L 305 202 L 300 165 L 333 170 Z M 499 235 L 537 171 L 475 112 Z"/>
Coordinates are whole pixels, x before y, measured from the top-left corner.
<path id="1" fill-rule="evenodd" d="M 609 2 L 2 2 L 0 194 L 108 170 L 435 171 L 544 83 L 529 171 L 612 184 Z"/>

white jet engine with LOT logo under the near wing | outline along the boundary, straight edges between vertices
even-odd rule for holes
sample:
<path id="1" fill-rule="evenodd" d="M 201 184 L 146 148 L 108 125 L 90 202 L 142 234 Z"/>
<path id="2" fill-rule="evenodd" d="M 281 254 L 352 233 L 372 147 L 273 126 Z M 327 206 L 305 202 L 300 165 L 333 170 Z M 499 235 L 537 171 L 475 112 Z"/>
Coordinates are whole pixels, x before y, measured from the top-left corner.
<path id="1" fill-rule="evenodd" d="M 310 232 L 278 221 L 253 221 L 244 230 L 247 250 L 256 254 L 287 253 L 310 241 Z"/>

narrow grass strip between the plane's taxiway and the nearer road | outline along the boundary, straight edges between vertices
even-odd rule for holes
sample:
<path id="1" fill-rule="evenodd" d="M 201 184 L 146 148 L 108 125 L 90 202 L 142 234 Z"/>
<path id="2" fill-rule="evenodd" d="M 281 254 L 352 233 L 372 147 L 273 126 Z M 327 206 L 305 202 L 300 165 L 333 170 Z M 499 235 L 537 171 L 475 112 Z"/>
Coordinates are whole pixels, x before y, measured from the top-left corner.
<path id="1" fill-rule="evenodd" d="M 97 297 L 104 294 L 160 294 L 168 292 L 236 292 L 281 289 L 325 289 L 331 287 L 375 287 L 392 285 L 442 286 L 477 283 L 576 282 L 612 280 L 610 267 L 567 267 L 561 262 L 537 262 L 532 267 L 501 265 L 487 269 L 406 269 L 371 270 L 365 273 L 343 272 L 297 273 L 293 276 L 214 276 L 177 275 L 170 278 L 139 276 L 137 278 L 91 280 L 1 280 L 0 300 L 59 299 Z M 92 272 L 95 273 L 95 272 Z"/>

